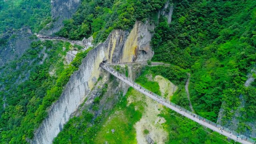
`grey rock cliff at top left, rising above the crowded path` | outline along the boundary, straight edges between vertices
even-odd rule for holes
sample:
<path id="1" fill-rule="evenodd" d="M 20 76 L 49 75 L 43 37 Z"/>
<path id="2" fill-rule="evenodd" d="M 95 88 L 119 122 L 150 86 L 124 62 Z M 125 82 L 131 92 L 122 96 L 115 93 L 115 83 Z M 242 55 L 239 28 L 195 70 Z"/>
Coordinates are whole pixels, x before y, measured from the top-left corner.
<path id="1" fill-rule="evenodd" d="M 52 19 L 54 22 L 48 24 L 47 29 L 43 29 L 40 34 L 52 35 L 62 28 L 62 21 L 69 19 L 76 12 L 81 0 L 51 0 Z"/>

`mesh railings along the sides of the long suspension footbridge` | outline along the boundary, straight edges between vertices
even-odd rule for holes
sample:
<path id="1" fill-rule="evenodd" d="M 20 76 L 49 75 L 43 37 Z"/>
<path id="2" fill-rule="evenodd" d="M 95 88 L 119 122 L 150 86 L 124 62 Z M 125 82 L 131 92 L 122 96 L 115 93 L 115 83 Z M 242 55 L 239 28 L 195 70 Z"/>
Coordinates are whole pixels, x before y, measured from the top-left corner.
<path id="1" fill-rule="evenodd" d="M 158 94 L 155 94 L 154 92 L 152 92 L 152 91 L 150 91 L 150 90 L 144 88 L 144 87 L 141 86 L 140 84 L 134 82 L 134 81 L 131 80 L 130 78 L 124 76 L 123 74 L 120 74 L 119 72 L 117 72 L 117 71 L 114 70 L 113 68 L 111 68 L 111 67 L 109 67 L 109 66 L 106 66 L 106 65 L 104 65 L 104 64 L 100 64 L 100 66 L 102 66 L 102 68 L 106 69 L 106 70 L 109 71 L 109 72 L 114 72 L 114 73 L 116 73 L 116 74 L 119 74 L 119 76 L 121 76 L 122 78 L 124 78 L 124 79 L 128 80 L 129 82 L 133 83 L 134 86 L 137 86 L 138 88 L 141 88 L 142 90 L 145 90 L 145 92 L 148 92 L 148 93 L 151 92 L 152 96 L 157 97 L 159 100 L 162 99 L 163 102 L 166 102 L 166 103 L 168 103 L 168 104 L 170 104 L 170 105 L 172 105 L 172 106 L 178 108 L 179 110 L 181 110 L 181 111 L 183 111 L 183 112 L 186 112 L 187 114 L 190 114 L 191 116 L 195 116 L 195 118 L 198 118 L 199 120 L 203 120 L 204 122 L 206 122 L 206 123 L 208 123 L 208 124 L 211 124 L 212 126 L 215 126 L 216 128 L 220 128 L 220 127 L 221 127 L 221 128 L 223 128 L 223 130 L 226 131 L 226 132 L 229 132 L 229 133 L 232 133 L 233 135 L 239 136 L 239 137 L 242 138 L 243 140 L 246 140 L 246 141 L 248 141 L 248 142 L 251 142 L 252 144 L 256 144 L 256 141 L 255 141 L 255 140 L 252 140 L 251 138 L 248 138 L 247 136 L 244 136 L 244 135 L 242 135 L 242 134 L 238 134 L 238 133 L 237 133 L 236 131 L 234 131 L 234 130 L 230 130 L 230 129 L 228 129 L 228 128 L 225 128 L 224 126 L 221 126 L 221 125 L 219 125 L 219 124 L 216 124 L 215 122 L 212 122 L 212 121 L 210 121 L 210 120 L 207 120 L 206 118 L 203 118 L 202 116 L 199 116 L 199 115 L 197 115 L 197 114 L 194 114 L 193 112 L 191 112 L 191 111 L 189 111 L 189 110 L 187 110 L 187 109 L 185 109 L 185 108 L 183 108 L 183 107 L 181 107 L 181 106 L 179 106 L 179 105 L 177 105 L 177 104 L 174 104 L 173 102 L 170 102 L 169 100 L 166 100 L 166 99 L 163 98 L 162 96 L 159 96 Z"/>

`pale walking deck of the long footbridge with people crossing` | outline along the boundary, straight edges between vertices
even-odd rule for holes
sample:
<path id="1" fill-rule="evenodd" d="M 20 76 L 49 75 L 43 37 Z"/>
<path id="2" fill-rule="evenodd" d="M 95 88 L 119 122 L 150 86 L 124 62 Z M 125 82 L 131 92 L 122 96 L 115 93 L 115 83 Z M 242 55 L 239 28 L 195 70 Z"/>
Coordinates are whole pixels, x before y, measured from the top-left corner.
<path id="1" fill-rule="evenodd" d="M 137 84 L 136 82 L 130 80 L 129 78 L 127 78 L 126 76 L 116 72 L 114 69 L 110 68 L 108 65 L 106 64 L 100 64 L 100 67 L 102 67 L 104 70 L 110 72 L 110 74 L 114 75 L 116 78 L 122 80 L 123 82 L 125 82 L 126 84 L 128 84 L 129 86 L 133 87 L 134 89 L 138 90 L 139 92 L 141 92 L 142 94 L 145 94 L 146 96 L 152 98 L 153 100 L 157 101 L 158 103 L 174 110 L 175 112 L 193 120 L 194 122 L 197 122 L 198 124 L 201 124 L 202 126 L 205 126 L 207 128 L 210 128 L 211 130 L 214 130 L 232 140 L 235 140 L 237 142 L 240 142 L 242 144 L 256 144 L 255 140 L 252 140 L 244 135 L 238 134 L 235 131 L 229 130 L 228 128 L 224 128 L 223 126 L 216 124 L 214 122 L 211 122 L 210 120 L 207 120 L 201 116 L 198 116 L 197 114 L 193 114 L 192 112 L 190 112 L 189 110 L 186 110 L 185 108 L 182 108 L 172 102 L 169 102 L 168 100 L 162 98 L 161 96 L 158 96 L 157 94 L 147 90 L 146 88 L 143 88 L 142 86 L 140 86 L 139 84 Z M 222 128 L 220 130 L 220 127 Z"/>

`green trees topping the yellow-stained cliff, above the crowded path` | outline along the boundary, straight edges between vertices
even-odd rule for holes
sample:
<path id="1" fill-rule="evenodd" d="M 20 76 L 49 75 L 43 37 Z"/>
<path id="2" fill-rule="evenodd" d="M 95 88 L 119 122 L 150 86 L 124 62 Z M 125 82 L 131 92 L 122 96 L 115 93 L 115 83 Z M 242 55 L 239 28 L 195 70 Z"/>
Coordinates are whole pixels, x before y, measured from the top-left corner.
<path id="1" fill-rule="evenodd" d="M 167 0 L 84 0 L 76 14 L 64 20 L 57 33 L 71 40 L 93 35 L 95 42 L 106 40 L 114 29 L 131 29 L 136 20 L 145 20 Z"/>

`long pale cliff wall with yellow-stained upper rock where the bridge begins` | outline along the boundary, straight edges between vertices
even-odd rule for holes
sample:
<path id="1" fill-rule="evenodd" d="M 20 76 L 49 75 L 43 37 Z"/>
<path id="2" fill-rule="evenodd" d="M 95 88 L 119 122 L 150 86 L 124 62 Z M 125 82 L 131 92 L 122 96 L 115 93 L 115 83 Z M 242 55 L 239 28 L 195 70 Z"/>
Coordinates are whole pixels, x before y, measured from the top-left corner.
<path id="1" fill-rule="evenodd" d="M 104 43 L 91 50 L 82 61 L 79 70 L 70 77 L 59 100 L 49 108 L 48 117 L 42 122 L 40 128 L 34 132 L 34 139 L 31 143 L 51 143 L 80 104 L 86 98 L 92 101 L 89 96 L 102 73 L 99 66 L 101 62 L 116 64 L 140 62 L 152 58 L 154 53 L 150 48 L 152 38 L 150 31 L 154 30 L 154 27 L 153 24 L 146 21 L 144 23 L 136 22 L 130 33 L 123 30 L 114 30 Z"/>

